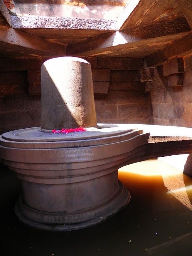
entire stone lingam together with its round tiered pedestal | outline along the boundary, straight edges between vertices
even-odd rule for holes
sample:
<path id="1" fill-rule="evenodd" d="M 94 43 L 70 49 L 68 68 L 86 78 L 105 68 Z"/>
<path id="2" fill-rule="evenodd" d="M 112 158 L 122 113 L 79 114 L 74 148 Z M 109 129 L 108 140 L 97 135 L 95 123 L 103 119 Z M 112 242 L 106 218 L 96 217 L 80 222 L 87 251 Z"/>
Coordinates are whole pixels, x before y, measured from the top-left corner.
<path id="1" fill-rule="evenodd" d="M 52 132 L 78 127 L 87 131 Z M 29 226 L 50 231 L 82 229 L 105 220 L 128 204 L 130 194 L 118 180 L 118 168 L 145 143 L 142 130 L 97 124 L 87 61 L 46 61 L 41 68 L 41 127 L 0 138 L 1 161 L 22 182 L 16 215 Z"/>

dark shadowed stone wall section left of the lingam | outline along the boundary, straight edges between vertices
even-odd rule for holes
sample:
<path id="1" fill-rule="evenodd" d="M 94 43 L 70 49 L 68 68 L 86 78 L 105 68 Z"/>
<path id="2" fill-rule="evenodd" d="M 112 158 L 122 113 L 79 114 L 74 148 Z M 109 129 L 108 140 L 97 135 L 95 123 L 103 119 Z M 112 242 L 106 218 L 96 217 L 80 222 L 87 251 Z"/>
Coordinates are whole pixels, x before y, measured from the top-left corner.
<path id="1" fill-rule="evenodd" d="M 40 84 L 27 81 L 40 71 L 44 58 L 2 58 L 0 60 L 0 133 L 18 128 L 40 126 Z M 33 80 L 36 79 L 34 75 Z"/>

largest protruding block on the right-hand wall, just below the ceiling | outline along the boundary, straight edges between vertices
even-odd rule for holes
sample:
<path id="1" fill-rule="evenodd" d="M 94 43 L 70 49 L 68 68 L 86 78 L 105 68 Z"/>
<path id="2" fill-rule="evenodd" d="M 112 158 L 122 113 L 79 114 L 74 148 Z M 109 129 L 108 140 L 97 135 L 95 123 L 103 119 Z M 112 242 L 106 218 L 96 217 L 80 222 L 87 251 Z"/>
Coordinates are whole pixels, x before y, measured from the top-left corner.
<path id="1" fill-rule="evenodd" d="M 174 57 L 163 63 L 163 75 L 169 76 L 172 74 L 184 72 L 184 60 L 183 58 Z"/>

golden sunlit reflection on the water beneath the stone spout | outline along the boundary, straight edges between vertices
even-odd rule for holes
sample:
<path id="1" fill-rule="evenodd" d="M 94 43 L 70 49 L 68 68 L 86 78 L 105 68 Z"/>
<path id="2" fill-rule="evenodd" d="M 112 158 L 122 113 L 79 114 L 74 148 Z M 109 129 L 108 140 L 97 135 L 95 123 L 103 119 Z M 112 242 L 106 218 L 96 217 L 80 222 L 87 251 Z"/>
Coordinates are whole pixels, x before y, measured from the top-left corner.
<path id="1" fill-rule="evenodd" d="M 156 190 L 159 191 L 158 197 L 163 193 L 162 200 L 166 201 L 166 195 L 174 196 L 184 206 L 192 210 L 190 202 L 192 199 L 192 179 L 183 174 L 182 169 L 176 169 L 163 160 L 163 158 L 161 160 L 150 159 L 124 166 L 119 169 L 118 178 L 128 190 L 129 188 L 133 191 Z"/>

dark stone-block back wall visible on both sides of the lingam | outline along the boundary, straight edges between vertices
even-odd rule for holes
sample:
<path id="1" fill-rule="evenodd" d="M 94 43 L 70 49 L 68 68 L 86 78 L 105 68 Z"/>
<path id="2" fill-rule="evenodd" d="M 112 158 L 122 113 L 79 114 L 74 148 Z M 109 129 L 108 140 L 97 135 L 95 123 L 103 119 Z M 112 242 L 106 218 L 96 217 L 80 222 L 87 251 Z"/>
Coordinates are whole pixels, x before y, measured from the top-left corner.
<path id="1" fill-rule="evenodd" d="M 91 64 L 98 123 L 153 124 L 143 59 L 85 57 Z M 46 58 L 2 58 L 0 133 L 41 125 L 40 70 Z M 56 110 L 55 110 L 56 111 Z"/>

